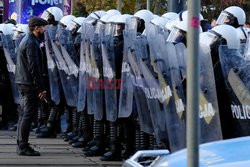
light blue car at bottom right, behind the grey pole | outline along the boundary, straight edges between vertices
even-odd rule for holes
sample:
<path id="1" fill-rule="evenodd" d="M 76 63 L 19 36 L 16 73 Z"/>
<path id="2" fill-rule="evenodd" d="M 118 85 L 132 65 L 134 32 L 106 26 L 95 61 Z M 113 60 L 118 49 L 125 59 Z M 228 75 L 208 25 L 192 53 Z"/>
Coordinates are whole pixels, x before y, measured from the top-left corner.
<path id="1" fill-rule="evenodd" d="M 187 149 L 138 151 L 124 167 L 186 167 Z M 250 137 L 221 140 L 200 145 L 200 167 L 250 167 Z"/>

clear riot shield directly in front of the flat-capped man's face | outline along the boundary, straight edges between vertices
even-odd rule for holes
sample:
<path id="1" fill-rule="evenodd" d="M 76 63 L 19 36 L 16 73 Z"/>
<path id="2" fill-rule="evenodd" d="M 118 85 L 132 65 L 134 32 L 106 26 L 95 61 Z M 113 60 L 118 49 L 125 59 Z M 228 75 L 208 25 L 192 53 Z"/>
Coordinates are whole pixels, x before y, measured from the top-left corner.
<path id="1" fill-rule="evenodd" d="M 50 96 L 51 100 L 58 105 L 60 103 L 58 69 L 54 60 L 54 52 L 50 44 L 50 36 L 47 31 L 45 32 L 45 51 L 49 75 Z"/>

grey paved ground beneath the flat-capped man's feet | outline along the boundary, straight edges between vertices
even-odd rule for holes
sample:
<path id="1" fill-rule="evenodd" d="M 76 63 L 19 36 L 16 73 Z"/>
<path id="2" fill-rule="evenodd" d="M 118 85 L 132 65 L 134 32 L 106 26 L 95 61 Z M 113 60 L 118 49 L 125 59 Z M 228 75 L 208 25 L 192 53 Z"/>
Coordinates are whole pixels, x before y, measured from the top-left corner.
<path id="1" fill-rule="evenodd" d="M 31 133 L 30 143 L 41 153 L 40 157 L 25 157 L 16 154 L 15 132 L 0 131 L 0 167 L 1 166 L 122 166 L 122 162 L 103 162 L 99 157 L 85 157 L 81 149 L 68 145 L 60 138 L 37 139 Z"/>

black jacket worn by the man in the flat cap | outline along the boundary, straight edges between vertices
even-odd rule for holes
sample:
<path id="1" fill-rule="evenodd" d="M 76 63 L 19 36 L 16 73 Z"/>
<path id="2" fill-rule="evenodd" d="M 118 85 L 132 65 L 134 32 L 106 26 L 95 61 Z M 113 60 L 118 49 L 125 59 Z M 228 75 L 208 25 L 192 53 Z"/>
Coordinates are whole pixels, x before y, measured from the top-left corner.
<path id="1" fill-rule="evenodd" d="M 33 33 L 27 34 L 18 47 L 15 82 L 34 86 L 39 92 L 45 90 L 41 58 L 39 39 Z"/>

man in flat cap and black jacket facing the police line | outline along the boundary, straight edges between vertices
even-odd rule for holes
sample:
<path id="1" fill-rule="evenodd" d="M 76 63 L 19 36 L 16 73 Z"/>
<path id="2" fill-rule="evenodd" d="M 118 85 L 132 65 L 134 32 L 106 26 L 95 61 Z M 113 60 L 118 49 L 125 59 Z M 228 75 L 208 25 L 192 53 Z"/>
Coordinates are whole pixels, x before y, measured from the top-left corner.
<path id="1" fill-rule="evenodd" d="M 21 41 L 17 52 L 15 82 L 21 93 L 21 115 L 17 128 L 18 155 L 39 156 L 29 146 L 31 122 L 36 116 L 39 100 L 46 101 L 46 89 L 42 77 L 42 51 L 40 39 L 47 21 L 33 17 L 29 20 L 29 34 Z"/>

